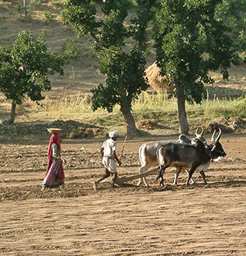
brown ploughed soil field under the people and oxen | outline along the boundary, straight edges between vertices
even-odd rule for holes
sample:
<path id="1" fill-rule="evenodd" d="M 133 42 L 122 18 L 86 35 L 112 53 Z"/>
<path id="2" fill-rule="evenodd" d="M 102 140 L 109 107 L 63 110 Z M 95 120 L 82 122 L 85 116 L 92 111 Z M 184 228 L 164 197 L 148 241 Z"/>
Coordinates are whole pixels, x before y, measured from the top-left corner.
<path id="1" fill-rule="evenodd" d="M 168 138 L 173 139 L 173 138 Z M 146 141 L 148 141 L 146 139 Z M 246 136 L 223 135 L 227 152 L 206 170 L 208 184 L 186 187 L 174 170 L 161 188 L 130 181 L 110 188 L 92 181 L 103 169 L 102 141 L 64 141 L 66 191 L 40 191 L 48 142 L 0 144 L 0 255 L 246 255 Z M 137 174 L 138 148 L 125 145 L 120 175 Z M 122 153 L 123 140 L 118 141 Z"/>

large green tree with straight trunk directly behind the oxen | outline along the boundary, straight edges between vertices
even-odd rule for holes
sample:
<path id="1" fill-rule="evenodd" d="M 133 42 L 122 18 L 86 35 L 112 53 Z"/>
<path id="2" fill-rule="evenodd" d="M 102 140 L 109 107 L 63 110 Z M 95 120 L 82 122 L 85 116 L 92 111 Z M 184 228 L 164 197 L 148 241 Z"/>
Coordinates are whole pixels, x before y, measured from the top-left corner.
<path id="1" fill-rule="evenodd" d="M 189 132 L 185 101 L 200 103 L 204 83 L 213 83 L 208 72 L 220 68 L 228 78 L 235 55 L 228 28 L 216 19 L 222 0 L 161 1 L 154 22 L 154 39 L 161 75 L 172 75 L 178 99 L 178 118 L 182 133 Z"/>

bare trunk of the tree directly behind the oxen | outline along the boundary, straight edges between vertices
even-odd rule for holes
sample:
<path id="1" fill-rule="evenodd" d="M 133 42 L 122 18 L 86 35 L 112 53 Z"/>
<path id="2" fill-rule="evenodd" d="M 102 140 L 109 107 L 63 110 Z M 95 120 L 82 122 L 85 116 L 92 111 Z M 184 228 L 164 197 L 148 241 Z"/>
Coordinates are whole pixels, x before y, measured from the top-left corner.
<path id="1" fill-rule="evenodd" d="M 179 132 L 184 134 L 189 133 L 189 124 L 186 117 L 185 111 L 185 96 L 180 91 L 178 83 L 176 83 L 177 94 L 178 94 L 178 120 L 179 120 Z"/>

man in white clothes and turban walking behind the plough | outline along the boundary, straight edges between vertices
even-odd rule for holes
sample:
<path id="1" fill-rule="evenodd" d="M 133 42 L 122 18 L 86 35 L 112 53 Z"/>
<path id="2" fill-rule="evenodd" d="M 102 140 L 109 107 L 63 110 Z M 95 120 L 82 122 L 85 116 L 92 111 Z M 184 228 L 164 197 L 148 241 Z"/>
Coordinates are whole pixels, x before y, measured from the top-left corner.
<path id="1" fill-rule="evenodd" d="M 102 144 L 102 148 L 100 149 L 100 153 L 102 156 L 102 164 L 105 167 L 105 174 L 98 180 L 93 182 L 93 188 L 96 191 L 97 185 L 100 181 L 103 181 L 110 174 L 113 174 L 112 178 L 112 188 L 116 186 L 116 177 L 117 177 L 117 167 L 116 161 L 121 165 L 121 161 L 118 159 L 116 155 L 116 140 L 120 133 L 118 131 L 109 132 L 110 139 L 107 139 Z"/>

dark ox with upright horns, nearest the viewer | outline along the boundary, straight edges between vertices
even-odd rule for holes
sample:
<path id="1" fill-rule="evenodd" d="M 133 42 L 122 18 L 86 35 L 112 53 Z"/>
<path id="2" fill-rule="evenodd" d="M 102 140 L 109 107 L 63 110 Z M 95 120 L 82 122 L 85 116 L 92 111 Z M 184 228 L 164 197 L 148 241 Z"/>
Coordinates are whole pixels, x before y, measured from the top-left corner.
<path id="1" fill-rule="evenodd" d="M 216 131 L 214 130 L 211 144 L 205 144 L 200 139 L 197 139 L 193 145 L 169 142 L 160 146 L 157 151 L 160 167 L 157 181 L 161 178 L 160 184 L 164 185 L 163 174 L 168 167 L 176 167 L 179 171 L 184 168 L 189 169 L 189 176 L 186 181 L 186 185 L 188 185 L 195 171 L 205 170 L 210 166 L 210 160 L 219 156 L 226 156 L 227 154 L 219 142 L 221 130 L 217 139 L 213 139 L 215 134 Z"/>

